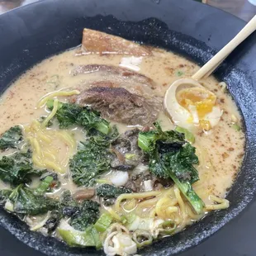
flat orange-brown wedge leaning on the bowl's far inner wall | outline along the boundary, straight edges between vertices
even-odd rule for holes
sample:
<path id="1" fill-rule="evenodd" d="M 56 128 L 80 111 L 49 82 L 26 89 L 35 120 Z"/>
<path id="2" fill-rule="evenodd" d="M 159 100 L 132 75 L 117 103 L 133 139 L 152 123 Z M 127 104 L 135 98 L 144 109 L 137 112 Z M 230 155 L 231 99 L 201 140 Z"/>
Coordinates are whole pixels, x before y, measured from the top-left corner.
<path id="1" fill-rule="evenodd" d="M 83 29 L 82 50 L 88 54 L 116 54 L 147 56 L 152 55 L 151 50 L 119 36 L 112 36 L 101 31 Z"/>

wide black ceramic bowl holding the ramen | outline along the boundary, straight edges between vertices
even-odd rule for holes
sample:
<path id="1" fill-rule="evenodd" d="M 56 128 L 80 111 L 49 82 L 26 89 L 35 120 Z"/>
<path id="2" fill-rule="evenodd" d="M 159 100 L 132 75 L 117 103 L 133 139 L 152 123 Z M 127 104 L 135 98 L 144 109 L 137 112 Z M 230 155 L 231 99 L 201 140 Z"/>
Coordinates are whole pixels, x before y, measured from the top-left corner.
<path id="1" fill-rule="evenodd" d="M 192 0 L 45 0 L 0 17 L 0 93 L 40 60 L 79 45 L 83 27 L 156 45 L 204 64 L 244 26 L 244 21 Z M 256 35 L 250 36 L 217 69 L 244 116 L 246 155 L 228 199 L 183 232 L 142 249 L 142 255 L 173 255 L 197 245 L 239 214 L 254 197 L 256 180 Z M 70 249 L 56 239 L 28 230 L 0 210 L 1 225 L 32 248 L 48 255 L 102 255 Z M 36 252 L 35 254 L 36 255 Z"/>

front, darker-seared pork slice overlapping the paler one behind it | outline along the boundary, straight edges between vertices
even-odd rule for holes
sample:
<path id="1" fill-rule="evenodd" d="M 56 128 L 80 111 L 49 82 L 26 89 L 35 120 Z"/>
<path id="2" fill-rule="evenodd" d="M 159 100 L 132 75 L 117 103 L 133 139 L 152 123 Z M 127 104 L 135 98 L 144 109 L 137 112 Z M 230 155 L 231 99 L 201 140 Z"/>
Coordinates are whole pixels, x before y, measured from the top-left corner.
<path id="1" fill-rule="evenodd" d="M 70 102 L 91 106 L 100 111 L 109 121 L 126 125 L 152 126 L 159 116 L 159 102 L 154 98 L 146 99 L 125 88 L 116 88 L 111 82 L 95 83 L 95 87 L 80 90 L 80 94 L 70 97 Z M 104 83 L 106 87 L 104 87 Z M 100 86 L 98 86 L 100 85 Z"/>

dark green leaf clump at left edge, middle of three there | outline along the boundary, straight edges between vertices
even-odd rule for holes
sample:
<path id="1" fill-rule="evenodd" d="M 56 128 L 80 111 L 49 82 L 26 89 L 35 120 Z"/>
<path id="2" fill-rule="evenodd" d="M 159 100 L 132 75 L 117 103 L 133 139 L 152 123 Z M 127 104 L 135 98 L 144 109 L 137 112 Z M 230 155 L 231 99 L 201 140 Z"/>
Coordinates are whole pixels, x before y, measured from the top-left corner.
<path id="1" fill-rule="evenodd" d="M 41 175 L 44 172 L 45 170 L 33 168 L 30 150 L 3 156 L 0 160 L 0 179 L 14 187 L 21 183 L 30 183 L 31 175 Z"/>

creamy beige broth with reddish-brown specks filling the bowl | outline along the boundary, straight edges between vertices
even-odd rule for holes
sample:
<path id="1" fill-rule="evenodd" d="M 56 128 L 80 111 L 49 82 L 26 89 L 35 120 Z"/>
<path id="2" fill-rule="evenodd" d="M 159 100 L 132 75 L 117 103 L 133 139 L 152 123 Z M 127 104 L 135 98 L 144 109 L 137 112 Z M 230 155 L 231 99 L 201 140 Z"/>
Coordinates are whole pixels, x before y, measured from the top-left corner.
<path id="1" fill-rule="evenodd" d="M 26 71 L 12 84 L 0 99 L 1 126 L 0 133 L 17 124 L 28 126 L 31 121 L 40 116 L 47 116 L 49 110 L 45 107 L 36 107 L 45 94 L 61 89 L 80 88 L 86 81 L 97 79 L 97 73 L 79 74 L 72 76 L 71 70 L 82 64 L 111 64 L 134 69 L 145 74 L 157 83 L 154 89 L 155 96 L 164 97 L 164 93 L 173 81 L 179 78 L 189 78 L 199 67 L 179 55 L 165 50 L 153 50 L 153 56 L 129 57 L 126 55 L 76 55 L 77 49 L 68 50 Z M 201 84 L 214 92 L 220 108 L 223 110 L 220 122 L 212 130 L 197 130 L 194 134 L 197 155 L 200 164 L 197 166 L 200 181 L 193 184 L 194 190 L 206 204 L 211 204 L 209 195 L 225 197 L 227 190 L 235 180 L 244 156 L 244 133 L 234 129 L 234 122 L 242 126 L 242 118 L 235 102 L 228 93 L 223 92 L 219 81 L 214 77 L 201 80 Z M 67 97 L 58 97 L 59 101 L 66 102 Z M 173 130 L 174 125 L 168 116 L 161 111 L 158 118 L 163 130 Z M 130 130 L 132 126 L 116 123 L 120 133 Z M 58 130 L 57 124 L 49 130 Z M 72 130 L 76 141 L 83 140 L 85 134 L 82 129 Z M 63 145 L 55 144 L 61 158 Z M 73 154 L 76 152 L 74 149 Z M 0 156 L 10 154 L 3 151 Z M 102 174 L 101 178 L 107 178 L 111 173 Z M 72 182 L 69 174 L 69 164 L 65 163 L 65 173 L 59 175 L 61 187 L 50 197 L 59 197 L 64 189 L 74 192 L 77 186 Z M 36 187 L 35 183 L 33 186 Z M 7 183 L 0 182 L 0 187 L 9 187 Z M 230 202 L 232 203 L 232 201 Z M 197 216 L 198 217 L 198 216 Z M 195 219 L 197 219 L 197 217 Z M 186 216 L 186 224 L 190 224 L 193 218 Z M 186 225 L 185 224 L 185 225 Z M 183 229 L 182 225 L 178 230 Z"/>

